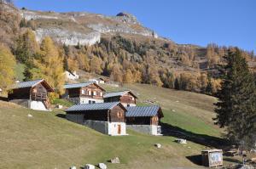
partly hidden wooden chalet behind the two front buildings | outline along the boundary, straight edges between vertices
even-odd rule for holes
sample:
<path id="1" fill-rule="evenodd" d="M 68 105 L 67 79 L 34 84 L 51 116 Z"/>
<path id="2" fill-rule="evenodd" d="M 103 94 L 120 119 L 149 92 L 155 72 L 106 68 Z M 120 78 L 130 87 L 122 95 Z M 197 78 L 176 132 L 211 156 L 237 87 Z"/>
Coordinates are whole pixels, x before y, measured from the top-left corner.
<path id="1" fill-rule="evenodd" d="M 104 94 L 104 102 L 120 102 L 125 107 L 136 106 L 137 96 L 131 91 Z"/>

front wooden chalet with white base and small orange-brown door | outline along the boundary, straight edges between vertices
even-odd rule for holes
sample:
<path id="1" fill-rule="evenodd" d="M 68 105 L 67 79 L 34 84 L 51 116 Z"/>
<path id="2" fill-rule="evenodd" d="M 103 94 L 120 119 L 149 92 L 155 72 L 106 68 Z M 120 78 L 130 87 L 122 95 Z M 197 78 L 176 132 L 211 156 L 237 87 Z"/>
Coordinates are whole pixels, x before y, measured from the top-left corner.
<path id="1" fill-rule="evenodd" d="M 78 104 L 66 110 L 69 121 L 108 135 L 126 135 L 125 107 L 119 102 Z"/>

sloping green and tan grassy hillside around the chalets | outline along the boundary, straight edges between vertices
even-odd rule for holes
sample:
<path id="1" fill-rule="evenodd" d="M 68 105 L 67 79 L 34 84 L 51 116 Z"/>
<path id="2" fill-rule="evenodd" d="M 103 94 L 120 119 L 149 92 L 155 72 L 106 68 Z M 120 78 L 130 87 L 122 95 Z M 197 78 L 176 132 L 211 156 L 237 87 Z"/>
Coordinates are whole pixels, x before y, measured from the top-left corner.
<path id="1" fill-rule="evenodd" d="M 35 111 L 0 102 L 0 168 L 68 168 L 99 162 L 109 168 L 200 167 L 194 155 L 220 140 L 211 120 L 215 99 L 148 85 L 125 87 L 138 94 L 139 104 L 148 99 L 161 104 L 165 127 L 177 133 L 155 137 L 128 130 L 129 136 L 109 137 L 61 118 L 60 110 Z M 190 141 L 177 144 L 175 134 Z M 162 149 L 154 147 L 157 143 Z M 115 156 L 121 164 L 108 163 Z"/>

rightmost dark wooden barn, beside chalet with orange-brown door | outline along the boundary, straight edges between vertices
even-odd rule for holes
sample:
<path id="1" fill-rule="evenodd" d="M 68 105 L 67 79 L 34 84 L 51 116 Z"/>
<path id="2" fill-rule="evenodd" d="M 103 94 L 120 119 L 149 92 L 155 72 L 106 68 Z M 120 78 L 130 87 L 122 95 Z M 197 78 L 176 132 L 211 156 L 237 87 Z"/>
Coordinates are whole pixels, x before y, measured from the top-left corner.
<path id="1" fill-rule="evenodd" d="M 159 105 L 126 107 L 126 127 L 151 135 L 161 135 L 160 119 L 164 117 Z"/>

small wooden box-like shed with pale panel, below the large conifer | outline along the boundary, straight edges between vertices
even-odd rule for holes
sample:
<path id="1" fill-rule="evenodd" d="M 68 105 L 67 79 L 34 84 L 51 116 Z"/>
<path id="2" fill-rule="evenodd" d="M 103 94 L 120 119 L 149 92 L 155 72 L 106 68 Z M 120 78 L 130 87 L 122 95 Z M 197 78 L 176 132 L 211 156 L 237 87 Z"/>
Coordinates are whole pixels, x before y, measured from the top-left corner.
<path id="1" fill-rule="evenodd" d="M 223 151 L 222 149 L 208 149 L 201 151 L 202 166 L 222 166 Z"/>

